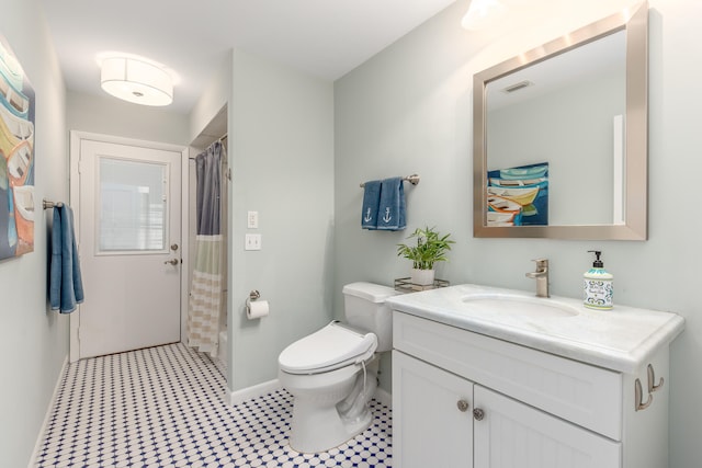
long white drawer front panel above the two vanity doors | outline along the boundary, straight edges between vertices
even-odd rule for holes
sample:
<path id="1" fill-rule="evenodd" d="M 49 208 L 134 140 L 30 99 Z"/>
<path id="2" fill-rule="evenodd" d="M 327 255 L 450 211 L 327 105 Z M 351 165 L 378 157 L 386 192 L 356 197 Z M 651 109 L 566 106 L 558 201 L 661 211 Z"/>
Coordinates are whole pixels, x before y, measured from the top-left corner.
<path id="1" fill-rule="evenodd" d="M 393 345 L 610 438 L 622 438 L 619 373 L 399 311 L 393 311 Z"/>

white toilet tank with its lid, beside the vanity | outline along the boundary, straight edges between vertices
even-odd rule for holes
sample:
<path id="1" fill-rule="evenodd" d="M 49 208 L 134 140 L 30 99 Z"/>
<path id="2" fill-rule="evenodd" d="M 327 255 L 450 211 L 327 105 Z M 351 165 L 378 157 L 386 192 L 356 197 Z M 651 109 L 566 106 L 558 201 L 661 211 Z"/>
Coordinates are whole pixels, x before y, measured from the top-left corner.
<path id="1" fill-rule="evenodd" d="M 377 351 L 393 349 L 393 312 L 385 299 L 399 294 L 388 286 L 351 283 L 343 287 L 343 311 L 347 322 L 377 336 Z"/>

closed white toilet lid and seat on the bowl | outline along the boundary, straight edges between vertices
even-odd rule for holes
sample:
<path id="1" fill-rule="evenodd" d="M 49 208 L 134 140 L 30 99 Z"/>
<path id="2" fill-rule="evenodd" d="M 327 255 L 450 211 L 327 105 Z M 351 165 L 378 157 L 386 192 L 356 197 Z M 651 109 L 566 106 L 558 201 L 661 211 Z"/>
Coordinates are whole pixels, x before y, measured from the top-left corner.
<path id="1" fill-rule="evenodd" d="M 331 322 L 287 346 L 278 358 L 288 374 L 317 374 L 333 370 L 375 352 L 377 338 L 339 322 Z"/>

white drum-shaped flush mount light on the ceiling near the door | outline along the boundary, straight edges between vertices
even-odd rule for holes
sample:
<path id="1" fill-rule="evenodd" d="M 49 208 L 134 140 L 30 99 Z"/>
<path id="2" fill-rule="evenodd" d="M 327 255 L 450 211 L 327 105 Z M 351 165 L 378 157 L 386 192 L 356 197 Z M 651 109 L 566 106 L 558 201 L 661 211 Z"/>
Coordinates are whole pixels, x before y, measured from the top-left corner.
<path id="1" fill-rule="evenodd" d="M 143 105 L 173 102 L 173 80 L 155 64 L 133 57 L 106 57 L 101 67 L 102 89 L 115 98 Z"/>

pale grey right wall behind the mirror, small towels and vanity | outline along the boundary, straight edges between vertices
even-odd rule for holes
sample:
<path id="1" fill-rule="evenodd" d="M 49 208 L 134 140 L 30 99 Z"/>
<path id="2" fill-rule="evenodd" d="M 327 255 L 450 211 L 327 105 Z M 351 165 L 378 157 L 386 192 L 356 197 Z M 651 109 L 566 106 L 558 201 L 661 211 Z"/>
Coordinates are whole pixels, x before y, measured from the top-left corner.
<path id="1" fill-rule="evenodd" d="M 702 71 L 702 4 L 652 0 L 649 67 L 649 239 L 645 242 L 474 239 L 472 236 L 472 78 L 477 71 L 629 5 L 629 1 L 552 2 L 521 23 L 471 33 L 460 28 L 466 1 L 403 37 L 335 84 L 335 309 L 344 283 L 392 284 L 410 265 L 396 243 L 418 226 L 437 226 L 457 243 L 438 272 L 453 284 L 533 290 L 531 259 L 552 261 L 552 293 L 580 297 L 587 250 L 604 252 L 614 274 L 615 304 L 672 310 L 687 330 L 671 347 L 670 466 L 702 459 L 702 316 L 698 298 L 702 219 L 680 199 L 697 199 L 702 133 L 697 85 Z M 408 230 L 360 229 L 362 192 L 370 179 L 417 172 L 408 189 Z M 386 365 L 386 363 L 385 363 Z M 387 373 L 383 385 L 387 388 Z"/>

